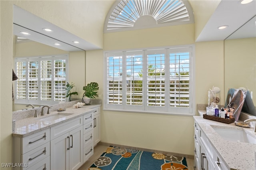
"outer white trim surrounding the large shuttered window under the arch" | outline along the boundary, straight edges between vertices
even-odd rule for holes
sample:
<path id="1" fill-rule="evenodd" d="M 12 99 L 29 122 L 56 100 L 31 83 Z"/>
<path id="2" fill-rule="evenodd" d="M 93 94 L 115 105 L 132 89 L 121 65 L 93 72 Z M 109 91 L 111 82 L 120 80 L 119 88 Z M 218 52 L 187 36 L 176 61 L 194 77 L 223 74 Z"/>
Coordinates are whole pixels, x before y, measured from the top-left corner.
<path id="1" fill-rule="evenodd" d="M 191 47 L 191 56 L 190 56 L 190 85 L 192 85 L 192 87 L 190 86 L 190 106 L 189 106 L 189 111 L 184 112 L 184 108 L 170 108 L 170 107 L 166 107 L 168 108 L 167 111 L 161 111 L 159 109 L 157 109 L 157 107 L 152 107 L 148 110 L 141 110 L 140 107 L 136 108 L 137 106 L 132 106 L 133 109 L 127 108 L 125 104 L 123 105 L 114 105 L 111 104 L 111 106 L 114 107 L 109 107 L 108 104 L 106 103 L 106 91 L 107 91 L 107 77 L 106 77 L 106 54 L 107 53 L 114 53 L 114 52 L 122 52 L 122 51 L 138 51 L 138 50 L 152 50 L 152 49 L 179 49 L 179 48 L 186 48 L 186 47 Z M 169 51 L 168 51 L 169 52 Z M 194 75 L 195 75 L 195 68 L 194 68 L 194 56 L 195 56 L 195 45 L 194 44 L 187 44 L 187 45 L 172 45 L 172 46 L 163 46 L 163 47 L 149 47 L 149 48 L 138 48 L 138 49 L 121 49 L 121 50 L 111 50 L 111 51 L 103 51 L 104 53 L 104 93 L 103 93 L 103 97 L 104 97 L 104 103 L 103 103 L 103 110 L 106 111 L 118 111 L 118 112 L 135 112 L 135 113 L 152 113 L 152 114 L 165 114 L 165 115 L 189 115 L 189 116 L 194 116 L 194 108 L 196 107 L 196 103 L 194 102 L 195 99 L 195 83 L 194 83 Z M 168 55 L 167 55 L 168 56 Z M 166 57 L 168 58 L 168 57 Z M 167 60 L 167 59 L 166 59 Z M 168 61 L 169 62 L 169 61 Z M 167 64 L 168 65 L 168 64 Z M 124 67 L 123 69 L 123 73 L 124 72 Z M 144 70 L 145 71 L 145 70 Z M 192 73 L 191 73 L 192 72 Z M 145 75 L 145 74 L 144 74 Z M 165 74 L 167 76 L 167 74 Z M 165 76 L 165 77 L 166 77 Z M 167 80 L 169 80 L 169 76 L 167 76 Z M 126 87 L 126 82 L 123 81 L 123 92 L 124 92 L 124 88 Z M 166 81 L 168 82 L 168 81 Z M 145 98 L 145 95 L 144 95 Z M 144 99 L 145 101 L 145 99 Z M 166 100 L 167 101 L 167 100 Z M 146 105 L 144 105 L 144 107 L 147 107 Z M 188 108 L 185 108 L 188 109 Z M 170 111 L 171 110 L 171 111 Z"/>

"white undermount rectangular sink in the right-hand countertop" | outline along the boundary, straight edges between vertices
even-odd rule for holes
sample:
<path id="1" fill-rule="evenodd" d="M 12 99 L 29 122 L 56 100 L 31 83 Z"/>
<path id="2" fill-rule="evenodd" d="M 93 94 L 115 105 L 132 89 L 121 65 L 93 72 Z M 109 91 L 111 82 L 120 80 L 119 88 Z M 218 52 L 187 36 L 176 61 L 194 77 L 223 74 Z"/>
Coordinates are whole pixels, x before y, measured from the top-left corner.
<path id="1" fill-rule="evenodd" d="M 215 127 L 212 128 L 224 139 L 236 142 L 246 142 L 251 144 L 256 144 L 256 138 L 246 133 L 244 130 L 233 129 L 233 128 L 223 128 Z"/>

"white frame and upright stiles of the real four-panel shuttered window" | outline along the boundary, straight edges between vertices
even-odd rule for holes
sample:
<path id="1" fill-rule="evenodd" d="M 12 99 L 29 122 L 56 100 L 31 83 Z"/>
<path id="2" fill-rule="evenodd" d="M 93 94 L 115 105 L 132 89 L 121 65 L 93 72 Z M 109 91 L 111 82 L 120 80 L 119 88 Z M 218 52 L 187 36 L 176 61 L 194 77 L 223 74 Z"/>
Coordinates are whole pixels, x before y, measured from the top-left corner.
<path id="1" fill-rule="evenodd" d="M 111 56 L 113 53 L 123 53 L 124 59 L 122 59 L 122 74 L 126 75 L 126 53 L 130 51 L 143 51 L 143 59 L 147 58 L 146 53 L 149 51 L 154 52 L 154 50 L 163 50 L 166 49 L 165 54 L 165 87 L 170 87 L 170 53 L 174 53 L 173 51 L 181 51 L 184 49 L 189 48 L 190 57 L 189 57 L 189 107 L 182 108 L 182 107 L 170 107 L 170 98 L 165 99 L 165 106 L 162 108 L 155 107 L 155 106 L 147 106 L 145 102 L 147 103 L 147 94 L 146 89 L 144 87 L 143 89 L 143 105 L 137 106 L 137 105 L 126 105 L 126 76 L 122 76 L 122 95 L 123 102 L 122 105 L 115 105 L 115 104 L 108 104 L 108 79 L 107 79 L 107 69 L 108 69 L 108 63 L 107 58 Z M 170 51 L 172 50 L 172 51 Z M 103 51 L 104 53 L 104 103 L 103 103 L 103 110 L 106 111 L 122 111 L 122 112 L 137 112 L 137 113 L 156 113 L 156 114 L 168 114 L 168 115 L 195 115 L 194 108 L 195 103 L 194 101 L 194 54 L 195 54 L 195 45 L 194 44 L 187 44 L 187 45 L 172 45 L 172 46 L 164 46 L 164 47 L 150 47 L 150 48 L 139 48 L 139 49 L 122 49 L 122 50 L 111 50 L 111 51 Z M 166 57 L 167 56 L 167 57 Z M 143 65 L 146 64 L 147 61 L 143 61 Z M 146 75 L 146 67 L 143 66 L 143 75 Z M 168 69 L 168 70 L 167 70 Z M 142 77 L 143 81 L 146 81 L 146 77 Z M 145 83 L 143 83 L 144 85 Z M 147 84 L 147 83 L 146 83 Z M 164 93 L 165 96 L 168 97 L 167 94 L 170 94 L 170 88 L 166 88 L 166 92 Z"/>

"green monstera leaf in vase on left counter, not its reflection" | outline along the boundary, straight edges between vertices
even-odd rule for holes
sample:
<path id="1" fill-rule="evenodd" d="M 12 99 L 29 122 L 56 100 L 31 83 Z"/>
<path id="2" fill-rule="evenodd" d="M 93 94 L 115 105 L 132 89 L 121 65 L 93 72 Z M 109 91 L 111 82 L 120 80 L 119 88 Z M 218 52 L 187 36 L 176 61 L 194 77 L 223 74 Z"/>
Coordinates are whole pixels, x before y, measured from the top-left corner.
<path id="1" fill-rule="evenodd" d="M 98 90 L 99 85 L 96 82 L 91 82 L 90 84 L 87 84 L 86 86 L 83 87 L 84 90 L 84 95 L 82 98 L 82 102 L 86 103 L 87 105 L 90 105 L 91 99 L 95 99 L 95 97 L 98 97 Z M 89 103 L 85 102 L 84 97 L 88 97 L 90 99 Z"/>

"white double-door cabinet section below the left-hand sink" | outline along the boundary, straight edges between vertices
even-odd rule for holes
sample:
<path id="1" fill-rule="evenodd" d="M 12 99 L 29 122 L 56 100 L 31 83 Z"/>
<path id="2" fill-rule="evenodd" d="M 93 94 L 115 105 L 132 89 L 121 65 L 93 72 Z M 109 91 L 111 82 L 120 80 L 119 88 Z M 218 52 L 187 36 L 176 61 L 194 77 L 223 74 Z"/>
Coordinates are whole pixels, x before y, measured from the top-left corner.
<path id="1" fill-rule="evenodd" d="M 83 164 L 83 117 L 50 128 L 51 169 L 76 170 Z"/>

